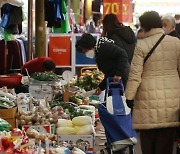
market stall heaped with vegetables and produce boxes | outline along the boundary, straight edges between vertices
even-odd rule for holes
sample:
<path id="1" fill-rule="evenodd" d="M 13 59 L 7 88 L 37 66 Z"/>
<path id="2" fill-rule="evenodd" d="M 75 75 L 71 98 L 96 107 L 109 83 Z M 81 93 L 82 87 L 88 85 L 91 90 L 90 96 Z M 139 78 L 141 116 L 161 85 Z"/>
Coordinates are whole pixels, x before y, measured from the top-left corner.
<path id="1" fill-rule="evenodd" d="M 92 154 L 100 103 L 93 93 L 103 77 L 87 67 L 78 77 L 67 71 L 23 76 L 29 93 L 1 86 L 0 152 Z"/>

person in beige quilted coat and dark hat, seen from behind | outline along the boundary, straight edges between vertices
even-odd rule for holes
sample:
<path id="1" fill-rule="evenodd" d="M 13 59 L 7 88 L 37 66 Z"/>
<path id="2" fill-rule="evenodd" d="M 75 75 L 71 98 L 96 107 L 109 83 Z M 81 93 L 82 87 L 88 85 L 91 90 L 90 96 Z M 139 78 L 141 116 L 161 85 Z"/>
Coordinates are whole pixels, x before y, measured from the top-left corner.
<path id="1" fill-rule="evenodd" d="M 179 127 L 180 40 L 166 35 L 143 64 L 164 31 L 155 11 L 145 12 L 139 20 L 145 35 L 137 41 L 131 63 L 127 104 L 134 100 L 133 128 L 140 130 L 142 153 L 172 154 Z"/>

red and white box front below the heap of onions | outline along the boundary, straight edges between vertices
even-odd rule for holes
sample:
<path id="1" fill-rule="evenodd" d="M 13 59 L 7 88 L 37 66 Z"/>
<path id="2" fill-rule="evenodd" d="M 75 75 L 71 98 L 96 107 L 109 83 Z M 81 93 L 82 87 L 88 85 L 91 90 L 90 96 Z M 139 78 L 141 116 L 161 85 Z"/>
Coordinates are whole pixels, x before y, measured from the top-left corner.
<path id="1" fill-rule="evenodd" d="M 55 125 L 25 125 L 22 126 L 22 130 L 24 131 L 28 131 L 31 129 L 35 129 L 37 130 L 40 134 L 45 134 L 45 133 L 50 133 L 50 134 L 54 134 L 55 133 Z"/>

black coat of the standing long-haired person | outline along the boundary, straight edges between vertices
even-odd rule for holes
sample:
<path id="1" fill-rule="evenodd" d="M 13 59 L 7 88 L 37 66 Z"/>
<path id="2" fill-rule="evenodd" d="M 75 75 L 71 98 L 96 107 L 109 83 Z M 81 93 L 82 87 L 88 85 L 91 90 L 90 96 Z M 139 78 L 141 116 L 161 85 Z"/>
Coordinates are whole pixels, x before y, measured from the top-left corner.
<path id="1" fill-rule="evenodd" d="M 128 61 L 131 64 L 136 45 L 136 37 L 133 30 L 129 26 L 116 28 L 107 37 L 114 40 L 116 45 L 126 50 Z"/>

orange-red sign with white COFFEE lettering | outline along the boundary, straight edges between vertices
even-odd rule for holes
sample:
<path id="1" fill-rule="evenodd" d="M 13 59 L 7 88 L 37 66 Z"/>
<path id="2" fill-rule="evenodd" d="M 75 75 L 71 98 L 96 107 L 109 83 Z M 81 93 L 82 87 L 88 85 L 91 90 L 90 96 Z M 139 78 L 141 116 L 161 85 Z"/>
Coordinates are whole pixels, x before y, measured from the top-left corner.
<path id="1" fill-rule="evenodd" d="M 55 61 L 56 66 L 70 66 L 71 65 L 70 36 L 50 36 L 48 56 Z"/>

